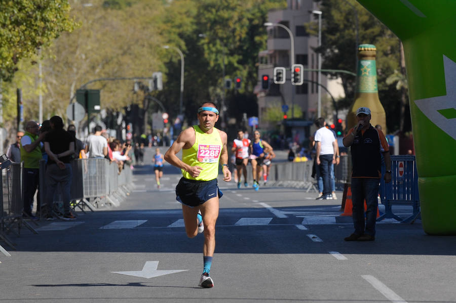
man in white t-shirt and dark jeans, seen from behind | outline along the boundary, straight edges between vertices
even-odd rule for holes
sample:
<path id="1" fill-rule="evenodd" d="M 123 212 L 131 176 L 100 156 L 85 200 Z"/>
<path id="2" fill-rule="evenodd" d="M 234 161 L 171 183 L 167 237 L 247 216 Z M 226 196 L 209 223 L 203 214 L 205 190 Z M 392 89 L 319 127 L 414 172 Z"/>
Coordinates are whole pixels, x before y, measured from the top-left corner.
<path id="1" fill-rule="evenodd" d="M 316 169 L 320 169 L 320 176 L 323 178 L 322 199 L 332 200 L 330 184 L 330 165 L 335 162 L 337 142 L 332 132 L 325 127 L 325 119 L 322 117 L 315 120 L 318 130 L 315 133 L 317 154 L 315 161 Z"/>

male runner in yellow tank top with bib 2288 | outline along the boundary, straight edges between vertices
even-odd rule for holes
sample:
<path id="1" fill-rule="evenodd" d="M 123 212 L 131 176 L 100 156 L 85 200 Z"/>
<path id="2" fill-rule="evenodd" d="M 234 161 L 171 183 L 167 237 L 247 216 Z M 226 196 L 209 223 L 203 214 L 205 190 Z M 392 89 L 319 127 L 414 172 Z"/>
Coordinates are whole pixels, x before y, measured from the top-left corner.
<path id="1" fill-rule="evenodd" d="M 203 274 L 199 286 L 213 287 L 209 276 L 215 250 L 215 222 L 218 217 L 218 165 L 221 162 L 223 181 L 231 181 L 228 169 L 227 136 L 215 128 L 218 110 L 214 103 L 204 103 L 198 109 L 199 125 L 182 131 L 165 153 L 165 160 L 182 170 L 176 186 L 176 200 L 182 203 L 185 231 L 189 238 L 204 230 Z M 176 154 L 182 150 L 182 160 Z"/>

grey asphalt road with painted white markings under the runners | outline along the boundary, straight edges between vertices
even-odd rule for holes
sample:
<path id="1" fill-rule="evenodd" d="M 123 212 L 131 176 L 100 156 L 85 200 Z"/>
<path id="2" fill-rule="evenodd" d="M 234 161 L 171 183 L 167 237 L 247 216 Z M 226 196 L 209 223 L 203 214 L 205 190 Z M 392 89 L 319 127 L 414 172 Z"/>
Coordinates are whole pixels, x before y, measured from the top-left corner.
<path id="1" fill-rule="evenodd" d="M 203 236 L 185 235 L 179 178 L 166 165 L 157 189 L 152 166 L 138 166 L 120 207 L 9 234 L 17 251 L 0 242 L 11 254 L 0 254 L 0 301 L 456 302 L 456 237 L 384 220 L 375 241 L 345 242 L 353 228 L 335 222 L 340 192 L 316 201 L 299 189 L 223 181 L 215 286 L 199 288 Z"/>

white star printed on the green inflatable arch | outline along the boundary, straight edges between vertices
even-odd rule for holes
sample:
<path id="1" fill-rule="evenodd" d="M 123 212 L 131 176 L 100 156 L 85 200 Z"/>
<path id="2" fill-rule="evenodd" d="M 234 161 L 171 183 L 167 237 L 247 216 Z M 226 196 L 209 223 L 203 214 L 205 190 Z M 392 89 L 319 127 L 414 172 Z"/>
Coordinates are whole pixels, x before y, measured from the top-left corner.
<path id="1" fill-rule="evenodd" d="M 415 100 L 416 106 L 442 131 L 456 140 L 456 118 L 448 119 L 439 110 L 456 110 L 456 63 L 443 55 L 445 70 L 446 95 Z"/>

